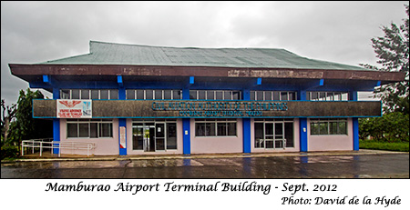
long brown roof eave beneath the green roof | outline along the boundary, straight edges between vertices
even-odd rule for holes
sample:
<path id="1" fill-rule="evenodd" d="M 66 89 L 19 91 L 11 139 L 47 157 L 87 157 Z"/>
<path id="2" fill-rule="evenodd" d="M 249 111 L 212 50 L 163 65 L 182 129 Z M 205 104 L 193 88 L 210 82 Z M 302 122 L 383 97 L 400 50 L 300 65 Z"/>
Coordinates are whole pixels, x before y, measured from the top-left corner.
<path id="1" fill-rule="evenodd" d="M 302 79 L 353 79 L 381 81 L 382 85 L 405 80 L 403 72 L 296 68 L 249 68 L 171 65 L 20 65 L 9 64 L 12 75 L 151 75 L 221 76 Z"/>

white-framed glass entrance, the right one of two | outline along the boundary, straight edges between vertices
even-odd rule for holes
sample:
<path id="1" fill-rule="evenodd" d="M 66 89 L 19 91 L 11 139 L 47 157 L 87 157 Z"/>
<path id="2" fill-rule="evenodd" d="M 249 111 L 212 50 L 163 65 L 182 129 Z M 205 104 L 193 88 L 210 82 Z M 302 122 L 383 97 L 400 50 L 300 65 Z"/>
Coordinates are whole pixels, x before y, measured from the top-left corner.
<path id="1" fill-rule="evenodd" d="M 294 147 L 293 119 L 255 119 L 254 131 L 255 148 Z"/>

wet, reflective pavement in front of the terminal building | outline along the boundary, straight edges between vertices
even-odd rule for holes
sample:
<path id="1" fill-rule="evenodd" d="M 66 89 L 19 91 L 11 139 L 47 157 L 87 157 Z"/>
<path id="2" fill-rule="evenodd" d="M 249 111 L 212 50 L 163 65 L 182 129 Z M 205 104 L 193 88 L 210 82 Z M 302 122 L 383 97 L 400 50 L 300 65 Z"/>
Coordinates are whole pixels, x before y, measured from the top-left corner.
<path id="1" fill-rule="evenodd" d="M 2 178 L 409 178 L 409 153 L 30 156 L 4 162 Z"/>

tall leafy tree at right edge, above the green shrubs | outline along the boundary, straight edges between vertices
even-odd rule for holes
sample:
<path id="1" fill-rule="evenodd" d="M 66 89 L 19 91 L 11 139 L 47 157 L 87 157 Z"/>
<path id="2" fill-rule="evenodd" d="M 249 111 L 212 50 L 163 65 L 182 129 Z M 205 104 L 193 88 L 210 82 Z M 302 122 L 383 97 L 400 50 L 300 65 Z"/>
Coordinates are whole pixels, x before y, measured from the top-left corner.
<path id="1" fill-rule="evenodd" d="M 372 39 L 374 52 L 379 58 L 378 64 L 364 65 L 364 67 L 390 72 L 405 72 L 405 81 L 382 85 L 374 90 L 374 94 L 380 96 L 384 102 L 384 112 L 402 112 L 409 114 L 409 6 L 405 5 L 407 18 L 403 19 L 403 25 L 392 23 L 390 27 L 382 26 L 384 37 Z"/>

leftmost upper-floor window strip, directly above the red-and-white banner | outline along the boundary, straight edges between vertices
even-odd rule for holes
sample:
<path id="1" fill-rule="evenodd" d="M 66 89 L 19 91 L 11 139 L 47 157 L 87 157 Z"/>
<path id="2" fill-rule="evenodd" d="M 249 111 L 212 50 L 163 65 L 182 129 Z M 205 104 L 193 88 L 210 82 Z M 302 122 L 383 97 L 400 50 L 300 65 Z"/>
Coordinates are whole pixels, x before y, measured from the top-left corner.
<path id="1" fill-rule="evenodd" d="M 118 99 L 118 89 L 62 89 L 60 99 Z"/>

